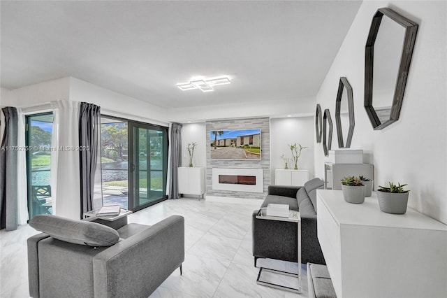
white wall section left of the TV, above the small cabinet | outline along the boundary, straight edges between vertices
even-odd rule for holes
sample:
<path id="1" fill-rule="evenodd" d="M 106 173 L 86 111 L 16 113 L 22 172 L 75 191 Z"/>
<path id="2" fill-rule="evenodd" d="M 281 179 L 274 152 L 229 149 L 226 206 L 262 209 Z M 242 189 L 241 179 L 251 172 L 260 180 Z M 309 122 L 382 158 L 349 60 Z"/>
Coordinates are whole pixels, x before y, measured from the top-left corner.
<path id="1" fill-rule="evenodd" d="M 206 167 L 206 124 L 205 122 L 186 123 L 182 127 L 182 166 L 189 165 L 188 143 L 197 143 L 194 149 L 193 166 Z"/>

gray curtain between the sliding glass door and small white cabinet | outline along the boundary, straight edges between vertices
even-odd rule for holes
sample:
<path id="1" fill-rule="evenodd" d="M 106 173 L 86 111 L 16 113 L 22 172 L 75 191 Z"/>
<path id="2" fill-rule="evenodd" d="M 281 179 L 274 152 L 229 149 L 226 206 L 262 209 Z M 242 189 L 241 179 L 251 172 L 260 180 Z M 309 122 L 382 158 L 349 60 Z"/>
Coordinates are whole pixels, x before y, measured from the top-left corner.
<path id="1" fill-rule="evenodd" d="M 178 167 L 182 165 L 182 125 L 173 123 L 170 129 L 170 189 L 169 199 L 178 199 Z"/>

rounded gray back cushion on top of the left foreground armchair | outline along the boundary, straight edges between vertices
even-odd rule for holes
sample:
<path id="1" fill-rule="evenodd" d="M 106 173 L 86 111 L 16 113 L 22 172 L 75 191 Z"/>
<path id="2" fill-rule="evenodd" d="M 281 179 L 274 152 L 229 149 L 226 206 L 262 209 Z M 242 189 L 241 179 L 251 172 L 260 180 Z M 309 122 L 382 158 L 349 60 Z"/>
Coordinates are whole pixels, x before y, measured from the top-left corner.
<path id="1" fill-rule="evenodd" d="M 55 239 L 86 246 L 112 246 L 119 240 L 118 232 L 111 227 L 56 215 L 37 215 L 29 225 Z"/>

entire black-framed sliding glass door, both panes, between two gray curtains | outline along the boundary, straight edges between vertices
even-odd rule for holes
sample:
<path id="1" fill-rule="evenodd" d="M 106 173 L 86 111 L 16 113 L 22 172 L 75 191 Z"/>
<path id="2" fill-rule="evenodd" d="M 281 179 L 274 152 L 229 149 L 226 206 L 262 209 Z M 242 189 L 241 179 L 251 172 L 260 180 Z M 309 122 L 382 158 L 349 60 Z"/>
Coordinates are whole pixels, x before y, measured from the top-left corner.
<path id="1" fill-rule="evenodd" d="M 101 117 L 103 205 L 137 211 L 166 199 L 168 129 Z"/>

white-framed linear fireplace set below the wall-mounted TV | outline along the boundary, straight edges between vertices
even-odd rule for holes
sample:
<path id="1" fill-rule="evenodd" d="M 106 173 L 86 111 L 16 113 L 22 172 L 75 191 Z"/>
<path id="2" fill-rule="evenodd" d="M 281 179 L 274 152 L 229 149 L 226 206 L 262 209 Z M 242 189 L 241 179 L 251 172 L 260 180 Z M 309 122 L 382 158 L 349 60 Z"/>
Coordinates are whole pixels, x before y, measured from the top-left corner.
<path id="1" fill-rule="evenodd" d="M 264 192 L 263 169 L 212 169 L 212 189 Z"/>

